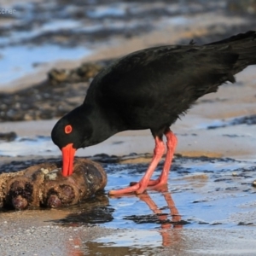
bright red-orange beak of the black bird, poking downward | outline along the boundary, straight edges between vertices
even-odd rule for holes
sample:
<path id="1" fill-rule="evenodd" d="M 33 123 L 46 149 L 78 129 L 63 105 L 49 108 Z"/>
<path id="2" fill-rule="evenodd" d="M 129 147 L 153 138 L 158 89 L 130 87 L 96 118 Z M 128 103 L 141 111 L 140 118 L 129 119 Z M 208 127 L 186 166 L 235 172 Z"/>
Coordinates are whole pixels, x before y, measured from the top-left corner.
<path id="1" fill-rule="evenodd" d="M 62 175 L 69 176 L 73 173 L 73 158 L 76 148 L 73 148 L 73 143 L 67 144 L 66 147 L 61 148 L 62 152 Z"/>

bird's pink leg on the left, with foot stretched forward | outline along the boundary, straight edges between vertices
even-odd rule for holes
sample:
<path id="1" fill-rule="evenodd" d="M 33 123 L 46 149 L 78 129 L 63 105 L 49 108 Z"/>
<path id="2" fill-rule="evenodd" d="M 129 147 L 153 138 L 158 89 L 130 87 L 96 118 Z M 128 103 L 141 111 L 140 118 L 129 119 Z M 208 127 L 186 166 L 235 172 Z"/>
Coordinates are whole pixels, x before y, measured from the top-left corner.
<path id="1" fill-rule="evenodd" d="M 143 176 L 143 178 L 138 183 L 132 185 L 131 187 L 125 189 L 110 190 L 109 195 L 122 195 L 131 192 L 135 192 L 136 194 L 142 194 L 147 189 L 150 177 L 152 176 L 154 169 L 160 162 L 166 150 L 165 143 L 163 143 L 163 141 L 159 137 L 155 137 L 154 141 L 155 148 L 153 159 L 150 165 L 148 166 L 148 170 Z"/>

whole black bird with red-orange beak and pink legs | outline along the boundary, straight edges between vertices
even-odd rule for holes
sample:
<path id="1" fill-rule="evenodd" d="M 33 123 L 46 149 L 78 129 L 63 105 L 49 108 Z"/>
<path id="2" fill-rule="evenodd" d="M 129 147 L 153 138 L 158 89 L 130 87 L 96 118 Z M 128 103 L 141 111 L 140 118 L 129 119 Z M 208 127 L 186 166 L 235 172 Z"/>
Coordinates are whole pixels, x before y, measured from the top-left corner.
<path id="1" fill-rule="evenodd" d="M 78 148 L 101 143 L 119 131 L 150 129 L 155 141 L 154 156 L 142 180 L 109 194 L 140 194 L 148 186 L 166 184 L 177 145 L 177 137 L 169 127 L 199 97 L 216 92 L 227 81 L 234 83 L 234 75 L 253 64 L 253 31 L 212 44 L 142 49 L 114 61 L 93 79 L 83 104 L 53 128 L 52 140 L 62 151 L 63 175 L 73 173 L 73 157 Z M 150 180 L 165 151 L 160 177 Z"/>

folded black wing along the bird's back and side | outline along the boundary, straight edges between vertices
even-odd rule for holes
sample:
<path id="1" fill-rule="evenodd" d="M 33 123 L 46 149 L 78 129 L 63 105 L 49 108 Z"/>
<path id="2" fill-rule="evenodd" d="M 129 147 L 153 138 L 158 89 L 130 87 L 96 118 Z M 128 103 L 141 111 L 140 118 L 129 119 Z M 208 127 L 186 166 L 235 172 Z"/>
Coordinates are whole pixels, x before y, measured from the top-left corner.
<path id="1" fill-rule="evenodd" d="M 237 58 L 229 47 L 215 45 L 143 49 L 99 73 L 85 102 L 115 108 L 137 129 L 156 116 L 160 123 L 172 124 L 198 97 L 235 81 L 232 67 Z"/>

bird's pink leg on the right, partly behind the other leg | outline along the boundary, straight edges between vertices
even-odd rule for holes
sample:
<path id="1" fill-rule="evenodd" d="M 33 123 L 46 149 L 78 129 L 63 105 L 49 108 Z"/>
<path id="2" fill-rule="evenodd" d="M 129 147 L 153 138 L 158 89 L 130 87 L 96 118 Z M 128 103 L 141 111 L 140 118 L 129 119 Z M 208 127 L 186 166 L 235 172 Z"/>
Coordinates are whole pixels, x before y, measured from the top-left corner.
<path id="1" fill-rule="evenodd" d="M 165 132 L 165 136 L 167 139 L 166 146 L 167 146 L 167 152 L 166 152 L 166 161 L 163 167 L 163 171 L 160 174 L 160 177 L 156 180 L 150 180 L 148 183 L 148 186 L 154 186 L 150 189 L 155 189 L 156 186 L 162 186 L 167 183 L 169 172 L 172 165 L 172 158 L 175 151 L 175 148 L 177 146 L 177 137 L 172 133 L 171 130 L 168 129 L 168 131 Z"/>

